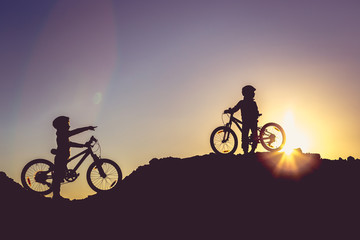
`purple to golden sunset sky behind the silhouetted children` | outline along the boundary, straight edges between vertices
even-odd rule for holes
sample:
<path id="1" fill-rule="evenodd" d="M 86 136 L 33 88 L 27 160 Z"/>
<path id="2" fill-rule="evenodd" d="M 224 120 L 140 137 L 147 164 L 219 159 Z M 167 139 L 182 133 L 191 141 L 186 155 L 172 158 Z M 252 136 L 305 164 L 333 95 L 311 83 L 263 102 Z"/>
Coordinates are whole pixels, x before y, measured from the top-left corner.
<path id="1" fill-rule="evenodd" d="M 1 1 L 0 171 L 20 182 L 27 162 L 53 160 L 60 115 L 98 126 L 71 140 L 97 137 L 124 176 L 208 154 L 247 84 L 288 148 L 360 158 L 359 12 L 350 0 Z M 90 163 L 65 197 L 94 194 Z"/>

